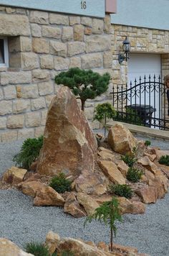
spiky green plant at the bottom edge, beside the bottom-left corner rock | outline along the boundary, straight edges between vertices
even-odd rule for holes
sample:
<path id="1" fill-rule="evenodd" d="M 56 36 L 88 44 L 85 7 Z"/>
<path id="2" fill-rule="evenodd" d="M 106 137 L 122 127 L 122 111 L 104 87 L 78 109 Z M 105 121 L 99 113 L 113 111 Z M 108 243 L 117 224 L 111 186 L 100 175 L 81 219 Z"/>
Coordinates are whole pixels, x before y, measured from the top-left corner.
<path id="1" fill-rule="evenodd" d="M 34 256 L 49 256 L 49 250 L 44 244 L 38 242 L 30 242 L 25 245 L 25 250 Z"/>

